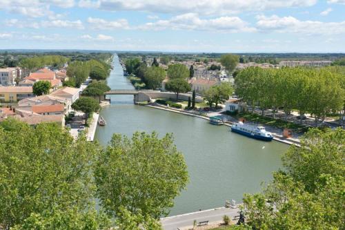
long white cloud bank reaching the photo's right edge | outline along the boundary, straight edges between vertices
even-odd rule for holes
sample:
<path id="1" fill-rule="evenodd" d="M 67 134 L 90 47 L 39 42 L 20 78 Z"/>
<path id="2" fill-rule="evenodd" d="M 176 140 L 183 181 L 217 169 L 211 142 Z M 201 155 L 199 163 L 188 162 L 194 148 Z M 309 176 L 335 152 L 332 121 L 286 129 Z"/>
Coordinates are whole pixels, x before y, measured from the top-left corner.
<path id="1" fill-rule="evenodd" d="M 259 15 L 257 19 L 257 29 L 264 32 L 271 31 L 308 35 L 336 35 L 345 33 L 345 21 L 299 21 L 295 17 L 278 17 L 277 15 L 271 17 Z"/>

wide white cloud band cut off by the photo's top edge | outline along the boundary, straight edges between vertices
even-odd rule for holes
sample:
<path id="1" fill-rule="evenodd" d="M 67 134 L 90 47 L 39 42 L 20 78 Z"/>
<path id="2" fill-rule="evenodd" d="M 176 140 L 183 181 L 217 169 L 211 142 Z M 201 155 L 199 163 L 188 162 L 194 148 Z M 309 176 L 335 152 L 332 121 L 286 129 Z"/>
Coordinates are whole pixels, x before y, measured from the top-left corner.
<path id="1" fill-rule="evenodd" d="M 276 8 L 313 6 L 317 0 L 81 0 L 79 6 L 94 6 L 102 10 L 135 10 L 171 13 L 195 12 L 199 15 L 228 15 L 244 11 L 274 10 Z"/>

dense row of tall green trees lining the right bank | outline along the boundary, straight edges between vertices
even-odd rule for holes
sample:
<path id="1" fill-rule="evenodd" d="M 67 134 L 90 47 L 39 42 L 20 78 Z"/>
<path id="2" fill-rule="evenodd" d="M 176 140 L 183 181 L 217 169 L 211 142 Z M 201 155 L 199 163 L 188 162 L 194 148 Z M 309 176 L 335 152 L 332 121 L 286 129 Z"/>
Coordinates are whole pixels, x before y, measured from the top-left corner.
<path id="1" fill-rule="evenodd" d="M 317 121 L 341 111 L 345 101 L 345 75 L 335 68 L 246 68 L 235 78 L 236 93 L 252 108 L 278 108 L 289 115 L 297 109 Z M 302 116 L 301 116 L 302 117 Z"/>

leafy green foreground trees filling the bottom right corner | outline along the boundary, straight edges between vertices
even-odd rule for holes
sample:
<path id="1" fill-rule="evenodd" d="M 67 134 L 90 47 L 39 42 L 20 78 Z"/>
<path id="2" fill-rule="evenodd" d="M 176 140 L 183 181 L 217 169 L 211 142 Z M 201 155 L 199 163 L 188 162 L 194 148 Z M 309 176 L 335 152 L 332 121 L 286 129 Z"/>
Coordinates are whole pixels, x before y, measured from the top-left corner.
<path id="1" fill-rule="evenodd" d="M 249 229 L 345 229 L 345 131 L 313 129 L 263 193 L 244 195 Z"/>

